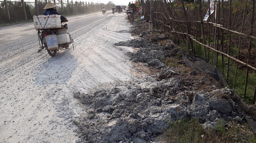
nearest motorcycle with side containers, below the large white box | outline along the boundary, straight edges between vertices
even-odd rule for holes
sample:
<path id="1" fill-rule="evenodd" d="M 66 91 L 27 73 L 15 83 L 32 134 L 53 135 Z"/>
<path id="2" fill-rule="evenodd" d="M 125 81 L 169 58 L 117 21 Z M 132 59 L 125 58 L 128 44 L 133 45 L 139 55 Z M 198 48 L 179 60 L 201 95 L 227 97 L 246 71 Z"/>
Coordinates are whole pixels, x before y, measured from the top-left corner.
<path id="1" fill-rule="evenodd" d="M 41 48 L 38 50 L 38 53 L 45 48 L 50 56 L 55 56 L 58 50 L 65 50 L 73 43 L 71 35 L 67 33 L 67 23 L 61 24 L 61 28 L 58 29 L 51 28 L 37 31 Z"/>

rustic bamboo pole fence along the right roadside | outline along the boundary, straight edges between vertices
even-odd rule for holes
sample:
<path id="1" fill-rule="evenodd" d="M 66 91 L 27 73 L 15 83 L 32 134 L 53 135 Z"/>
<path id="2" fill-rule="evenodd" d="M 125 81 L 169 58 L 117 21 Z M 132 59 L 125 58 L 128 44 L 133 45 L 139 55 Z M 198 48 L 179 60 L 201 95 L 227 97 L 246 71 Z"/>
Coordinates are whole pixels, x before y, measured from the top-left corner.
<path id="1" fill-rule="evenodd" d="M 243 86 L 240 95 L 253 97 L 255 104 L 255 0 L 250 3 L 248 0 L 195 0 L 193 3 L 141 0 L 140 3 L 145 19 L 169 32 L 177 43 L 183 43 L 188 53 L 218 67 L 230 87 L 238 91 Z M 248 85 L 248 81 L 253 84 Z"/>

